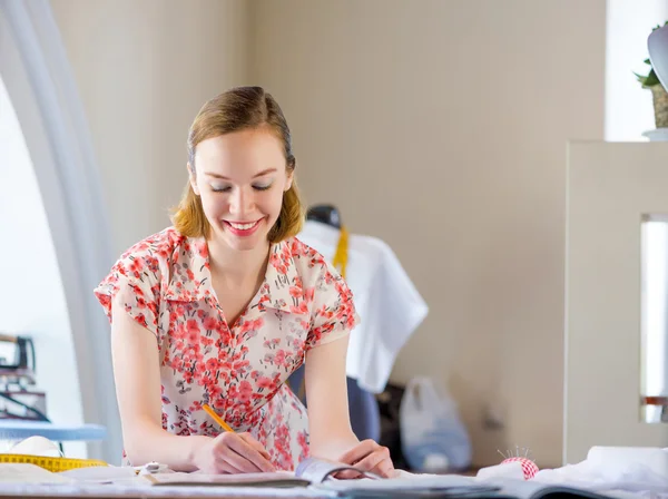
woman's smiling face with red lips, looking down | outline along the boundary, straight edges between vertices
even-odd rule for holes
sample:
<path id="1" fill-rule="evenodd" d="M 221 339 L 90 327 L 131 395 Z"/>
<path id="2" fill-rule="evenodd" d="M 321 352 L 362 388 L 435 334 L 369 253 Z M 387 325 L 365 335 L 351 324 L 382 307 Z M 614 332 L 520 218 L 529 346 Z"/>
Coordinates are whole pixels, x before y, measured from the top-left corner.
<path id="1" fill-rule="evenodd" d="M 190 185 L 212 236 L 238 251 L 265 244 L 293 178 L 281 140 L 267 129 L 212 137 L 197 145 L 195 168 Z"/>

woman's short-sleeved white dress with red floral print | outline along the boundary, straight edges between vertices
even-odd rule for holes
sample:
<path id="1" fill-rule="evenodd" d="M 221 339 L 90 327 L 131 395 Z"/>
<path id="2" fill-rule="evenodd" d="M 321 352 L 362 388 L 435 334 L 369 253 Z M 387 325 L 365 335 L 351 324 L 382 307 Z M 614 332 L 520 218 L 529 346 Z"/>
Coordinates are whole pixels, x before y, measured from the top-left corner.
<path id="1" fill-rule="evenodd" d="M 353 296 L 315 250 L 297 238 L 273 244 L 256 295 L 234 324 L 212 287 L 208 246 L 168 227 L 130 247 L 95 290 L 109 321 L 116 295 L 156 336 L 163 428 L 179 436 L 248 431 L 277 469 L 308 454 L 306 410 L 285 381 L 314 346 L 357 324 Z"/>

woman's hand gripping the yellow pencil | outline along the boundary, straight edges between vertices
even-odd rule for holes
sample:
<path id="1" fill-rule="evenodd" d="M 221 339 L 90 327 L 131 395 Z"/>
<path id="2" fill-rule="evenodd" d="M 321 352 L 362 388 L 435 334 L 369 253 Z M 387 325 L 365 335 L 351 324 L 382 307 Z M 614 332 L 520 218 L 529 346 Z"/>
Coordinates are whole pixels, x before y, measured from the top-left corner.
<path id="1" fill-rule="evenodd" d="M 225 431 L 208 438 L 193 456 L 194 464 L 205 473 L 273 472 L 269 453 L 250 433 Z"/>

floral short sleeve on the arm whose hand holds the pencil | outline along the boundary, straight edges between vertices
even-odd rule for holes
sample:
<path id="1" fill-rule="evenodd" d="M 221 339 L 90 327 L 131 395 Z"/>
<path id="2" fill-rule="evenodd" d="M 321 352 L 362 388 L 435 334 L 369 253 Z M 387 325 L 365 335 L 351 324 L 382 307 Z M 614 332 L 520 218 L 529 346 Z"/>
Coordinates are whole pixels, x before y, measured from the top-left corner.
<path id="1" fill-rule="evenodd" d="M 132 248 L 116 262 L 109 275 L 94 290 L 109 323 L 112 322 L 111 303 L 118 297 L 130 317 L 158 337 L 158 273 L 155 257 L 144 252 L 132 252 Z"/>

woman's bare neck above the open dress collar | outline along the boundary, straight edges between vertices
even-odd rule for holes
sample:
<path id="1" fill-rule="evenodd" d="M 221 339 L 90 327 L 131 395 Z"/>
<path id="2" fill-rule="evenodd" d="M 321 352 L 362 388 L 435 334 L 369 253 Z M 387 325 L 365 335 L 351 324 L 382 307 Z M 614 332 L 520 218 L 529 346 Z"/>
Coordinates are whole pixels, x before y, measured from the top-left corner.
<path id="1" fill-rule="evenodd" d="M 207 241 L 209 268 L 215 280 L 225 287 L 234 288 L 264 278 L 269 257 L 269 243 L 239 252 L 215 238 Z"/>

